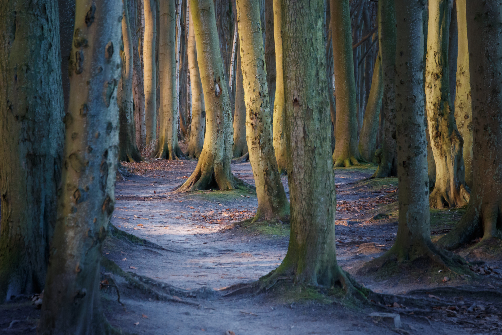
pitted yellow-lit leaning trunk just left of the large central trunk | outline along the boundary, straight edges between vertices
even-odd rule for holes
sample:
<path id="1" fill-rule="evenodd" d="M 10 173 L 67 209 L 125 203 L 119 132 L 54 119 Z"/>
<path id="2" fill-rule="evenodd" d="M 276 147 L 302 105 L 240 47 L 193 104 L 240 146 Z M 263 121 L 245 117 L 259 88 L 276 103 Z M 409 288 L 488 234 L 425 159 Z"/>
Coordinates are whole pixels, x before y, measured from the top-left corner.
<path id="1" fill-rule="evenodd" d="M 236 0 L 242 79 L 246 83 L 246 138 L 255 175 L 258 209 L 254 221 L 289 219 L 289 203 L 272 143 L 267 69 L 263 50 L 260 4 Z"/>

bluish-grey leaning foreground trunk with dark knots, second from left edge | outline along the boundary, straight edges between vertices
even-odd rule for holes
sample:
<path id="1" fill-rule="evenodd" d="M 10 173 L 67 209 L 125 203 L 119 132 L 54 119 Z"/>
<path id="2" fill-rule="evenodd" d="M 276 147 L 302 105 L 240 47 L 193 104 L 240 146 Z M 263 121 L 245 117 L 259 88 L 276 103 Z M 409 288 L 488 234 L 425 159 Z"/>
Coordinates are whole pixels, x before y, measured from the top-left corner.
<path id="1" fill-rule="evenodd" d="M 122 4 L 77 0 L 61 188 L 39 334 L 105 334 L 102 243 L 113 212 Z M 99 67 L 102 71 L 96 71 Z"/>

